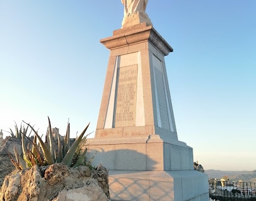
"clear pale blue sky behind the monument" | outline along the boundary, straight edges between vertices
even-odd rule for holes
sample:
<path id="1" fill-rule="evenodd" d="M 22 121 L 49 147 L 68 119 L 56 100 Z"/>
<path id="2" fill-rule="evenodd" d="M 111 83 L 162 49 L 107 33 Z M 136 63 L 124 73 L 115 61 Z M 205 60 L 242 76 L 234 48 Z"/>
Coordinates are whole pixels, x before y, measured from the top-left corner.
<path id="1" fill-rule="evenodd" d="M 166 56 L 179 140 L 205 169 L 256 169 L 256 1 L 149 0 Z M 99 114 L 117 0 L 0 0 L 0 129 L 47 116 L 73 137 Z M 6 134 L 6 133 L 4 133 Z"/>

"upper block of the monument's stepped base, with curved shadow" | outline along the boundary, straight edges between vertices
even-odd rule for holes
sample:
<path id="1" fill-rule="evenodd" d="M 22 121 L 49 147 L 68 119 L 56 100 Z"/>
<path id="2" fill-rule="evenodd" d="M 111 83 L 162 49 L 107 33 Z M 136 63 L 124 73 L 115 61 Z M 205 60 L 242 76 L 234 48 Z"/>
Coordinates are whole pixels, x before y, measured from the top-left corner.
<path id="1" fill-rule="evenodd" d="M 166 143 L 159 135 L 151 137 L 88 139 L 87 158 L 108 170 L 172 171 L 194 170 L 193 149 L 174 140 Z"/>

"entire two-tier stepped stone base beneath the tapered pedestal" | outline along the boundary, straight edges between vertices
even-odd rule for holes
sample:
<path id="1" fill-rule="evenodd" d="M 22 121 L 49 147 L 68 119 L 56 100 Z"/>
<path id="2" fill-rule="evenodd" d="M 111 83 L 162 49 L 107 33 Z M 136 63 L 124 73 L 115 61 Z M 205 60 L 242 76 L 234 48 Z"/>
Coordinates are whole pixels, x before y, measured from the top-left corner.
<path id="1" fill-rule="evenodd" d="M 157 136 L 155 136 L 157 137 Z M 193 170 L 193 150 L 185 143 L 145 139 L 88 139 L 87 158 L 109 170 L 111 200 L 206 201 L 208 178 Z M 95 151 L 97 151 L 95 155 Z"/>

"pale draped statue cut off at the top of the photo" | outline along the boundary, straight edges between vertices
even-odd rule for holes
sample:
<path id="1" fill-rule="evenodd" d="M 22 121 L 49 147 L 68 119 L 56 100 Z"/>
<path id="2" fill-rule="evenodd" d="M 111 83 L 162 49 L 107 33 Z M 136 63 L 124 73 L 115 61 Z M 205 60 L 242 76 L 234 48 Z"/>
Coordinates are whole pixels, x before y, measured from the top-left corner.
<path id="1" fill-rule="evenodd" d="M 146 14 L 147 1 L 148 0 L 121 0 L 122 4 L 124 4 L 122 28 L 144 22 L 151 25 L 151 21 Z"/>

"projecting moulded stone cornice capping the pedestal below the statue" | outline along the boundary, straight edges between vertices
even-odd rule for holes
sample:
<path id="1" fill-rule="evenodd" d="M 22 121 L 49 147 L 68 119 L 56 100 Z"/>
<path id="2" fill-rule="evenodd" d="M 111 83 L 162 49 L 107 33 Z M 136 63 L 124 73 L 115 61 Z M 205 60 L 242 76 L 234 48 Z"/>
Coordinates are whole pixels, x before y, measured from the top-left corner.
<path id="1" fill-rule="evenodd" d="M 173 51 L 173 48 L 157 33 L 152 26 L 147 26 L 146 23 L 137 24 L 128 28 L 117 29 L 113 32 L 113 36 L 100 39 L 100 43 L 108 49 L 121 48 L 136 43 L 149 41 L 164 56 Z"/>

